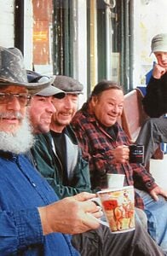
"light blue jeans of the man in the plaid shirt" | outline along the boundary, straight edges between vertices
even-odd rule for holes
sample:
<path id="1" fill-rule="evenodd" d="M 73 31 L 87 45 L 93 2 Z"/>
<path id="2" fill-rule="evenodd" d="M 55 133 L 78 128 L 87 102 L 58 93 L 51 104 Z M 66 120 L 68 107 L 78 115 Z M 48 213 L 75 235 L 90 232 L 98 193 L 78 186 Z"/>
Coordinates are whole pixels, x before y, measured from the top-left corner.
<path id="1" fill-rule="evenodd" d="M 158 196 L 158 201 L 154 201 L 150 195 L 139 189 L 137 193 L 144 201 L 148 232 L 167 253 L 167 201 L 162 196 Z"/>

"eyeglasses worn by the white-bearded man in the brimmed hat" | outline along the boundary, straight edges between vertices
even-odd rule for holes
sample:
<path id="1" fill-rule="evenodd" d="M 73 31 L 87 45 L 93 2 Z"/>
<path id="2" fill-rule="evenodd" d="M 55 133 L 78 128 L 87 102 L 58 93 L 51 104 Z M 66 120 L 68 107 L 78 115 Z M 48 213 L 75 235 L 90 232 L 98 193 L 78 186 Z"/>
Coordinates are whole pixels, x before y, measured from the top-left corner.
<path id="1" fill-rule="evenodd" d="M 14 98 L 17 98 L 21 107 L 26 107 L 31 100 L 31 95 L 24 93 L 13 94 L 0 92 L 0 104 L 8 104 L 9 102 L 12 102 Z"/>

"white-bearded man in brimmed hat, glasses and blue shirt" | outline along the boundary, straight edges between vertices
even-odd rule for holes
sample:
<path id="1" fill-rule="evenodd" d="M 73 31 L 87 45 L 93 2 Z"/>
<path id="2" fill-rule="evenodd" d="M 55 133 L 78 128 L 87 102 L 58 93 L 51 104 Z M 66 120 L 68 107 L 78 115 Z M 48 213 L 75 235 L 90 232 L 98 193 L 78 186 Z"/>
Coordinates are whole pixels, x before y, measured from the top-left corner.
<path id="1" fill-rule="evenodd" d="M 100 226 L 99 208 L 83 193 L 59 201 L 25 153 L 33 136 L 31 95 L 50 81 L 28 83 L 19 49 L 0 47 L 0 255 L 79 255 L 71 236 Z M 68 214 L 70 211 L 70 214 Z M 89 212 L 89 214 L 88 214 Z"/>

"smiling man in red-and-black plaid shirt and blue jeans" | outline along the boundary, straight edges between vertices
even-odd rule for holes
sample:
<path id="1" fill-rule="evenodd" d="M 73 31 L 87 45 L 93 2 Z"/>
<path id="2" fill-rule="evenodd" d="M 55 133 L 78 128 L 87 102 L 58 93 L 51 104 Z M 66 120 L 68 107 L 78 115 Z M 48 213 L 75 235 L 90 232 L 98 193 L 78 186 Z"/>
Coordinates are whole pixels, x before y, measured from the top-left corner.
<path id="1" fill-rule="evenodd" d="M 83 157 L 89 160 L 92 189 L 107 188 L 107 173 L 125 174 L 124 186 L 135 186 L 135 206 L 144 208 L 149 233 L 167 253 L 167 192 L 141 164 L 129 162 L 130 142 L 117 122 L 123 107 L 121 87 L 101 81 L 76 113 L 72 126 Z"/>

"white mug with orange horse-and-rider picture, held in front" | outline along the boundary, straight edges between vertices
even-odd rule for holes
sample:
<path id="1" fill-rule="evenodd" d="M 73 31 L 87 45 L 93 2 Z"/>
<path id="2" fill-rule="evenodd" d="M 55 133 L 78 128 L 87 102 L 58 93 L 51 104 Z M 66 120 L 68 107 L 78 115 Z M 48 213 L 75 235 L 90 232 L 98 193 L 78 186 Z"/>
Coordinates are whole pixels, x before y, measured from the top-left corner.
<path id="1" fill-rule="evenodd" d="M 97 192 L 112 233 L 135 230 L 134 187 L 105 189 Z"/>

